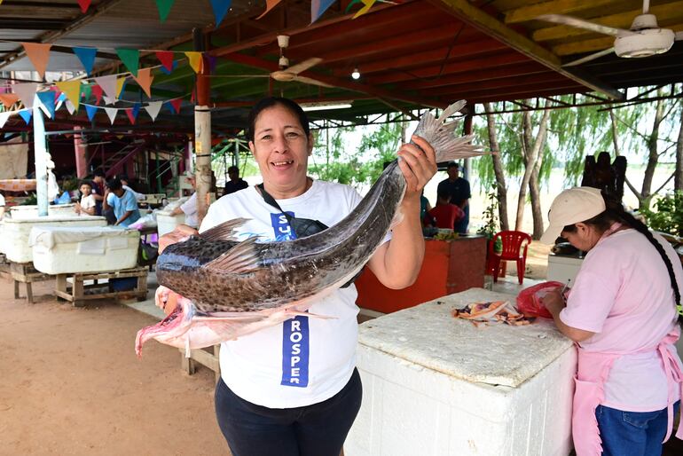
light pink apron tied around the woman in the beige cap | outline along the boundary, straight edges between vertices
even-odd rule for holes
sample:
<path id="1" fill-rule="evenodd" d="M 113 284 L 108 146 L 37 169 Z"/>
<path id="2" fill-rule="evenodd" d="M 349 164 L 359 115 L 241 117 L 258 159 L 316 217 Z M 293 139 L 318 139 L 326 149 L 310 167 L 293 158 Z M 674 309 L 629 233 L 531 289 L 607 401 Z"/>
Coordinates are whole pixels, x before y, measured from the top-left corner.
<path id="1" fill-rule="evenodd" d="M 677 388 L 680 390 L 680 397 L 683 399 L 683 373 L 679 369 L 676 358 L 667 349 L 667 347 L 672 347 L 679 340 L 679 334 L 680 332 L 677 327 L 667 334 L 655 348 L 633 352 L 641 353 L 657 350 L 663 360 L 664 372 L 666 373 L 669 385 L 667 405 L 669 424 L 664 442 L 669 440 L 673 430 L 673 394 Z M 612 368 L 616 358 L 621 356 L 622 354 L 590 352 L 578 347 L 577 375 L 574 377 L 576 389 L 574 391 L 574 409 L 571 417 L 571 433 L 577 456 L 600 456 L 602 452 L 602 440 L 600 438 L 598 421 L 595 418 L 595 409 L 598 405 L 601 405 L 605 398 L 603 384 L 607 380 L 609 370 Z M 679 424 L 676 436 L 683 439 L 683 425 Z"/>

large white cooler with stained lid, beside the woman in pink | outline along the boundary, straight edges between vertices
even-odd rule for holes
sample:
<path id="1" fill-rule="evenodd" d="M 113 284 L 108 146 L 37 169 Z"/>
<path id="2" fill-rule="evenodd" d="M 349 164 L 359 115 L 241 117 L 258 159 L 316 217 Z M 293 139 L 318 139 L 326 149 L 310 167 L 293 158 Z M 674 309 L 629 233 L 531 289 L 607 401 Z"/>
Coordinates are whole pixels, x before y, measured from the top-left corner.
<path id="1" fill-rule="evenodd" d="M 485 326 L 453 308 L 514 296 L 473 288 L 366 321 L 363 405 L 347 456 L 569 454 L 577 355 L 547 320 Z"/>

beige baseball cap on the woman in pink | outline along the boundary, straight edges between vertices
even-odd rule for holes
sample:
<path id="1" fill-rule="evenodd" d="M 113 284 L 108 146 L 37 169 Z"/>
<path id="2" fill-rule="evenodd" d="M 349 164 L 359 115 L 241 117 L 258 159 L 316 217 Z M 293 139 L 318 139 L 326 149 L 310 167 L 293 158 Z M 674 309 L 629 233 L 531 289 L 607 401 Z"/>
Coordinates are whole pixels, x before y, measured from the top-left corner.
<path id="1" fill-rule="evenodd" d="M 605 211 L 602 193 L 593 187 L 574 187 L 557 195 L 548 211 L 548 226 L 541 236 L 544 244 L 554 244 L 565 226 L 584 222 Z"/>

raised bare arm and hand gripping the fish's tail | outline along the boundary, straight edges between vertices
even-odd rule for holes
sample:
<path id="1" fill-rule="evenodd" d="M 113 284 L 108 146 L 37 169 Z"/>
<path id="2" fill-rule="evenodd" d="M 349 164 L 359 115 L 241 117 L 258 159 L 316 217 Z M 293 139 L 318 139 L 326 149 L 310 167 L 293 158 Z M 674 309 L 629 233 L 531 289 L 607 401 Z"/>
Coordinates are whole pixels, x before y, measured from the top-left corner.
<path id="1" fill-rule="evenodd" d="M 370 258 L 368 267 L 385 287 L 410 287 L 418 277 L 425 256 L 425 240 L 420 222 L 420 192 L 436 174 L 434 149 L 423 138 L 413 136 L 416 145 L 404 144 L 398 151 L 403 160 L 398 166 L 407 183 L 399 210 L 401 223 L 392 230 L 389 242 L 384 243 Z"/>

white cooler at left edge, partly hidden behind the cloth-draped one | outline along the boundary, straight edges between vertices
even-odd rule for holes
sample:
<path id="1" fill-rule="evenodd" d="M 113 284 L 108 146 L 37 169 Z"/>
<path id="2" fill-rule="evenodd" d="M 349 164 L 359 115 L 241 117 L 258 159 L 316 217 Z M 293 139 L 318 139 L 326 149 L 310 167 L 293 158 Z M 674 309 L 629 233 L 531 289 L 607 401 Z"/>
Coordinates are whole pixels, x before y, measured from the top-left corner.
<path id="1" fill-rule="evenodd" d="M 106 226 L 102 216 L 43 216 L 34 218 L 4 218 L 0 243 L 7 259 L 16 263 L 33 261 L 28 237 L 34 226 Z"/>

